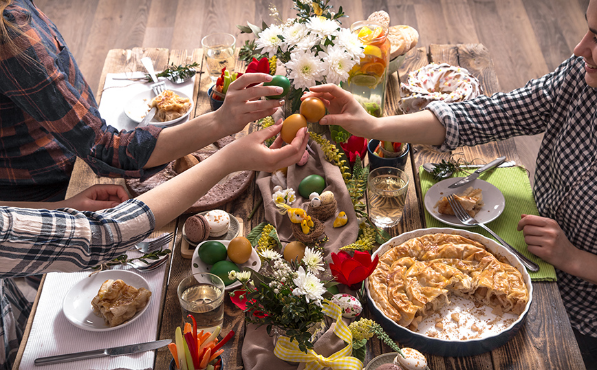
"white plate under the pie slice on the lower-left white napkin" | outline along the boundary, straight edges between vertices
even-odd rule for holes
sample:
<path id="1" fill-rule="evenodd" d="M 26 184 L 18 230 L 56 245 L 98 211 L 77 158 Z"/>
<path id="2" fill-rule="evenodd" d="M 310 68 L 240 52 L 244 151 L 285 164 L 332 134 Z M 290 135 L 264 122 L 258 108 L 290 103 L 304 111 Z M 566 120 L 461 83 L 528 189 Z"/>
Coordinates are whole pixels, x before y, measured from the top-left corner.
<path id="1" fill-rule="evenodd" d="M 67 292 L 64 297 L 62 309 L 64 316 L 72 325 L 88 331 L 111 331 L 125 327 L 137 320 L 149 307 L 148 302 L 140 312 L 137 312 L 130 320 L 117 325 L 115 327 L 108 327 L 103 318 L 96 316 L 94 310 L 91 308 L 91 300 L 98 294 L 98 290 L 108 279 L 121 279 L 128 285 L 133 285 L 139 289 L 144 287 L 149 290 L 149 283 L 140 275 L 127 270 L 107 270 L 98 272 L 89 278 L 76 283 Z"/>

